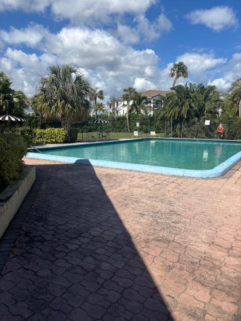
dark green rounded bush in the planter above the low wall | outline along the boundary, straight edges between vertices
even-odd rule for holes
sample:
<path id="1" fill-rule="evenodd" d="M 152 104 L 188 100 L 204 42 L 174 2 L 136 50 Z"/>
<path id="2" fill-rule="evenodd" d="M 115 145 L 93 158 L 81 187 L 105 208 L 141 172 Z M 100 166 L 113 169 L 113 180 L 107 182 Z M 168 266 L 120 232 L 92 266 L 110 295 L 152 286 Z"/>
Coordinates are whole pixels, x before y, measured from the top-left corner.
<path id="1" fill-rule="evenodd" d="M 0 189 L 19 178 L 24 168 L 22 158 L 27 153 L 27 143 L 19 134 L 8 132 L 0 135 Z"/>

